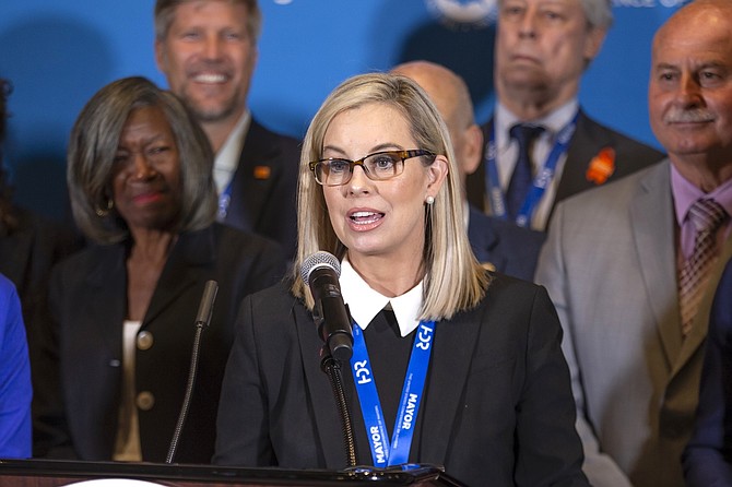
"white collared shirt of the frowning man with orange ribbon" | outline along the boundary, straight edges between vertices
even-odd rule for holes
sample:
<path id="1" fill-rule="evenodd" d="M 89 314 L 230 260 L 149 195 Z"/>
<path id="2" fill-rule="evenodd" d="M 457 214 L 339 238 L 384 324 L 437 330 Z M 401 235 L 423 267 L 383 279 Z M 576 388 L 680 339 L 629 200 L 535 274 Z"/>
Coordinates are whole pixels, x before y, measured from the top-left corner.
<path id="1" fill-rule="evenodd" d="M 575 114 L 579 109 L 579 102 L 576 98 L 567 102 L 548 116 L 538 120 L 519 120 L 519 118 L 508 111 L 508 109 L 500 103 L 496 104 L 496 115 L 494 117 L 494 128 L 496 134 L 496 165 L 498 166 L 498 178 L 500 179 L 500 187 L 504 191 L 508 189 L 508 183 L 513 174 L 513 166 L 518 158 L 518 143 L 509 135 L 509 130 L 516 123 L 528 122 L 544 127 L 544 131 L 534 142 L 531 151 L 531 161 L 533 164 L 534 175 L 544 167 L 544 163 L 548 158 L 552 147 L 556 142 L 556 136 L 559 131 L 571 121 Z M 557 181 L 562 179 L 564 170 L 564 163 L 567 161 L 567 154 L 563 154 L 557 161 L 554 178 L 546 187 L 536 210 L 531 216 L 531 228 L 544 230 L 548 215 L 554 204 L 554 197 L 556 195 Z"/>

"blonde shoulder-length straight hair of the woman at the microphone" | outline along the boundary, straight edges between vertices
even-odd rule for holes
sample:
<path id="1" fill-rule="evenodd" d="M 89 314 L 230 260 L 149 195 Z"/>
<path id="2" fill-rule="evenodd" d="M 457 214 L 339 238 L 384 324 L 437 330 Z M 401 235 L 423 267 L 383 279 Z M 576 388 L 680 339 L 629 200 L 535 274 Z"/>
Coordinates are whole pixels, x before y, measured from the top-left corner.
<path id="1" fill-rule="evenodd" d="M 368 104 L 395 108 L 411 124 L 418 149 L 442 154 L 448 159 L 445 185 L 432 205 L 425 203 L 425 243 L 422 249 L 425 278 L 420 319 L 449 319 L 483 298 L 488 277 L 468 241 L 459 173 L 447 127 L 427 94 L 414 81 L 398 74 L 369 73 L 346 80 L 328 96 L 310 122 L 300 156 L 298 246 L 292 290 L 312 309 L 312 297 L 299 276 L 303 262 L 319 250 L 339 259 L 346 253 L 347 249 L 330 223 L 322 187 L 316 182 L 308 163 L 322 157 L 326 131 L 337 115 Z"/>

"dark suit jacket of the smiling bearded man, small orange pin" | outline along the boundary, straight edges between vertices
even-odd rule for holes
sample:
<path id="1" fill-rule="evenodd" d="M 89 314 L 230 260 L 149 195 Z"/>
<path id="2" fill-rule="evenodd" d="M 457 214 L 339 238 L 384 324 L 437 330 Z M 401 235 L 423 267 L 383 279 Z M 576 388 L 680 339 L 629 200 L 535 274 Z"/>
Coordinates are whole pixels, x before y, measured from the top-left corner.
<path id="1" fill-rule="evenodd" d="M 252 118 L 224 218 L 227 225 L 279 242 L 287 257 L 295 253 L 297 242 L 299 156 L 299 142 L 265 129 Z"/>

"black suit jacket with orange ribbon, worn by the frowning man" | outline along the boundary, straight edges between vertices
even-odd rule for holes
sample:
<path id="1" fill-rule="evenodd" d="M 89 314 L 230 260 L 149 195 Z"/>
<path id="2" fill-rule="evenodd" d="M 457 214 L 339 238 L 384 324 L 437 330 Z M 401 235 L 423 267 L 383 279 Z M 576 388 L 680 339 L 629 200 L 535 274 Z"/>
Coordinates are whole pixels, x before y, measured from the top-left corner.
<path id="1" fill-rule="evenodd" d="M 483 136 L 487 141 L 493 131 L 493 119 L 485 123 L 482 129 Z M 604 147 L 615 150 L 615 171 L 607 179 L 607 182 L 658 163 L 663 158 L 661 152 L 598 123 L 580 109 L 577 128 L 567 150 L 567 161 L 562 171 L 562 179 L 557 187 L 553 207 L 559 201 L 575 193 L 598 186 L 588 180 L 586 174 L 590 161 Z M 468 200 L 471 204 L 479 209 L 485 209 L 485 211 L 489 210 L 486 206 L 485 199 L 485 158 L 477 169 L 468 176 L 467 188 Z"/>

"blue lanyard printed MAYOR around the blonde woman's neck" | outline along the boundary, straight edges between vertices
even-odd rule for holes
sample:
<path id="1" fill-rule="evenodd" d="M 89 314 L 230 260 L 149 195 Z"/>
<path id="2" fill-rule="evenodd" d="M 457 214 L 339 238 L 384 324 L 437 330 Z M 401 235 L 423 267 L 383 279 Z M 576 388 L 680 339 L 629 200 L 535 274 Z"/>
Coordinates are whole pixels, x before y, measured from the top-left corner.
<path id="1" fill-rule="evenodd" d="M 399 411 L 394 420 L 394 430 L 391 437 L 391 447 L 387 427 L 383 421 L 381 401 L 376 390 L 371 365 L 368 359 L 364 332 L 354 323 L 353 325 L 353 356 L 351 357 L 351 371 L 356 384 L 356 393 L 364 417 L 364 425 L 368 435 L 368 443 L 371 449 L 374 466 L 386 467 L 406 463 L 412 448 L 414 426 L 416 425 L 420 402 L 424 392 L 429 367 L 429 355 L 432 353 L 433 337 L 435 334 L 435 322 L 420 322 L 412 347 L 410 364 L 404 377 Z"/>

